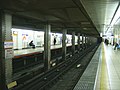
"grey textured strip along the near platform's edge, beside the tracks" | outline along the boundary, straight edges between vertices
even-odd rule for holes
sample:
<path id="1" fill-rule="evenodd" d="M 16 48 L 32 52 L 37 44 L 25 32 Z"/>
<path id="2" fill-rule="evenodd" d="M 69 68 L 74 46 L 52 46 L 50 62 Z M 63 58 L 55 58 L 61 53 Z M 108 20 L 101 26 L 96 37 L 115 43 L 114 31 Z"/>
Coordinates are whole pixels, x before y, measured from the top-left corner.
<path id="1" fill-rule="evenodd" d="M 73 90 L 94 90 L 94 83 L 96 79 L 96 72 L 99 63 L 99 56 L 101 52 L 101 45 L 93 55 L 90 63 L 85 69 Z M 85 59 L 84 59 L 85 60 Z"/>

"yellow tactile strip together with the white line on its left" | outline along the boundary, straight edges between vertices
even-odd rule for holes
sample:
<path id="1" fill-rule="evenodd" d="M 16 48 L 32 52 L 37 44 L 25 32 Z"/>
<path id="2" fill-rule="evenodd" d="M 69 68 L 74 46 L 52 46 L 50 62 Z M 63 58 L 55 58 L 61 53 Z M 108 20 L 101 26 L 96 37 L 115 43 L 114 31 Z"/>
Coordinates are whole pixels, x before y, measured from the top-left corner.
<path id="1" fill-rule="evenodd" d="M 111 90 L 109 84 L 109 75 L 106 63 L 105 46 L 101 44 L 101 54 L 99 59 L 98 74 L 94 90 Z"/>

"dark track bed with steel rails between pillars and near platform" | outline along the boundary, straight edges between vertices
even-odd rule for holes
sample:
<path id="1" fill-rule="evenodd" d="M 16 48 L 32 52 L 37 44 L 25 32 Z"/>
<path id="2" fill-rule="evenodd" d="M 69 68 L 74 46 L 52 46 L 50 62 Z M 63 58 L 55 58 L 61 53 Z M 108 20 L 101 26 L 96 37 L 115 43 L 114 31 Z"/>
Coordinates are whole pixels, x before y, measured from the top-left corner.
<path id="1" fill-rule="evenodd" d="M 56 89 L 55 87 L 52 87 L 52 86 L 55 85 L 55 83 L 57 82 L 59 83 L 59 81 L 62 80 L 61 78 L 67 79 L 67 76 L 69 76 L 69 79 L 64 82 L 69 82 L 69 81 L 72 81 L 72 82 L 69 83 L 68 88 L 66 90 L 68 89 L 72 90 L 74 85 L 77 83 L 76 80 L 78 80 L 78 78 L 80 78 L 80 76 L 84 72 L 85 68 L 87 67 L 96 49 L 97 47 L 93 45 L 91 46 L 91 48 L 86 49 L 79 54 L 75 54 L 74 57 L 71 57 L 70 59 L 63 61 L 62 63 L 55 66 L 51 70 L 45 72 L 42 76 L 36 77 L 27 82 L 24 82 L 21 85 L 13 88 L 13 90 L 49 90 L 49 89 L 62 90 L 61 88 Z M 84 58 L 86 58 L 86 60 Z M 77 65 L 80 66 L 81 68 L 76 69 Z M 73 72 L 75 72 L 76 75 Z M 71 77 L 74 77 L 74 78 L 72 79 Z"/>

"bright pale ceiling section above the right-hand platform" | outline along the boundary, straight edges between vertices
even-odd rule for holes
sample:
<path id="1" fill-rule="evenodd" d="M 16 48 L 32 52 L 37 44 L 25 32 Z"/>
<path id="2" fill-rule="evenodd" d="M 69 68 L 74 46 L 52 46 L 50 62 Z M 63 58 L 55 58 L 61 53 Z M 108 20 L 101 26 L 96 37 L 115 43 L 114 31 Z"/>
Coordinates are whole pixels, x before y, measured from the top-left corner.
<path id="1" fill-rule="evenodd" d="M 104 32 L 113 18 L 119 0 L 81 0 L 99 32 Z"/>

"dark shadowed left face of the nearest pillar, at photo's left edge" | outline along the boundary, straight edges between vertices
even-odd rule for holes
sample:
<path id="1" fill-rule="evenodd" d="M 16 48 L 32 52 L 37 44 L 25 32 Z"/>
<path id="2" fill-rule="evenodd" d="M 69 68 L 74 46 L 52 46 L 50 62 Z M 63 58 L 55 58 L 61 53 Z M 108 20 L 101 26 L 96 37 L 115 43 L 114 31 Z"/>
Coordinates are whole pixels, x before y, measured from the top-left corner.
<path id="1" fill-rule="evenodd" d="M 5 78 L 5 49 L 4 49 L 4 41 L 5 41 L 5 15 L 2 11 L 0 11 L 0 88 L 1 90 L 5 90 L 6 78 Z"/>

